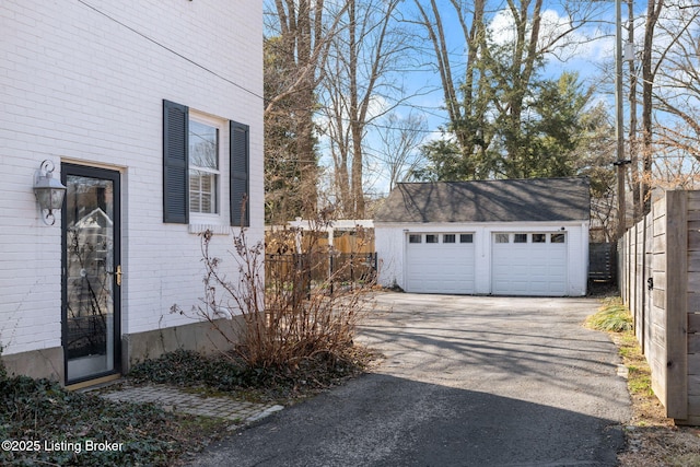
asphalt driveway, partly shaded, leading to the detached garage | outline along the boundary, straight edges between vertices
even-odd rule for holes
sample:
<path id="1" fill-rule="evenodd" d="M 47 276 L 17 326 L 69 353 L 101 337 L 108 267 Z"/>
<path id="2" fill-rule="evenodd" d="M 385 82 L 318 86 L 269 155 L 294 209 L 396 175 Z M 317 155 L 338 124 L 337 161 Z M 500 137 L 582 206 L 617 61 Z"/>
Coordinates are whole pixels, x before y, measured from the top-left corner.
<path id="1" fill-rule="evenodd" d="M 212 445 L 192 466 L 614 466 L 630 417 L 594 299 L 381 293 L 372 374 Z"/>

